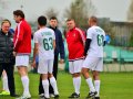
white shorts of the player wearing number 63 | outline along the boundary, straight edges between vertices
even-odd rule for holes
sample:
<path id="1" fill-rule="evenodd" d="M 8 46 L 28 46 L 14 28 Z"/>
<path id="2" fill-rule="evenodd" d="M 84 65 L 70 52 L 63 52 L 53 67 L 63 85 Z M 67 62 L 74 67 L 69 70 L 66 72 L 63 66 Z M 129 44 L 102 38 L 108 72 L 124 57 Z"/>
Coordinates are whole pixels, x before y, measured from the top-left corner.
<path id="1" fill-rule="evenodd" d="M 53 59 L 40 59 L 38 66 L 39 74 L 52 74 L 53 72 Z"/>

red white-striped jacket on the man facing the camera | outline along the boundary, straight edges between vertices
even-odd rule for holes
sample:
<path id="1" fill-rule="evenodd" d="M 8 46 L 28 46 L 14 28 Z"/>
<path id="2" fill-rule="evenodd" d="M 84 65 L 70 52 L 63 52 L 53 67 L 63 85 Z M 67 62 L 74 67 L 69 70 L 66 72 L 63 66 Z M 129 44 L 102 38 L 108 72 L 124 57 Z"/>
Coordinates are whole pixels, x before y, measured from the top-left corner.
<path id="1" fill-rule="evenodd" d="M 84 32 L 74 28 L 66 33 L 66 43 L 69 50 L 69 61 L 76 61 L 84 57 Z"/>

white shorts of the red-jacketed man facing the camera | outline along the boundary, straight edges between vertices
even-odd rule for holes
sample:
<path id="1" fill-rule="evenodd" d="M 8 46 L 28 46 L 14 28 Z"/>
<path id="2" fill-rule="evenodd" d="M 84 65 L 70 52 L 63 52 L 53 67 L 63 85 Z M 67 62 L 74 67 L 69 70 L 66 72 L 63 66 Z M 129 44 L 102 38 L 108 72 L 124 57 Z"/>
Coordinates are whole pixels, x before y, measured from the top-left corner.
<path id="1" fill-rule="evenodd" d="M 69 72 L 70 74 L 81 73 L 83 59 L 69 62 Z"/>

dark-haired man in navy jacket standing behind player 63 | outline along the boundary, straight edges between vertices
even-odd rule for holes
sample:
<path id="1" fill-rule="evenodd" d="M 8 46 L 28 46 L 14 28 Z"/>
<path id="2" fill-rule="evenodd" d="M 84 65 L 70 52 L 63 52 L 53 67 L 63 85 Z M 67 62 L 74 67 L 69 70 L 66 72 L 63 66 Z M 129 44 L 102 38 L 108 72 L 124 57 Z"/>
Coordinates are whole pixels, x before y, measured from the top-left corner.
<path id="1" fill-rule="evenodd" d="M 55 16 L 50 18 L 50 29 L 52 29 L 55 33 L 55 50 L 54 50 L 54 63 L 53 63 L 53 76 L 57 79 L 58 75 L 58 62 L 59 62 L 59 54 L 60 54 L 60 63 L 64 62 L 64 44 L 61 31 L 57 28 L 58 26 L 58 19 Z M 40 85 L 39 85 L 39 95 L 43 96 L 43 87 L 40 77 Z M 49 88 L 50 96 L 53 95 L 53 88 L 50 85 Z M 53 96 L 54 97 L 54 96 Z"/>

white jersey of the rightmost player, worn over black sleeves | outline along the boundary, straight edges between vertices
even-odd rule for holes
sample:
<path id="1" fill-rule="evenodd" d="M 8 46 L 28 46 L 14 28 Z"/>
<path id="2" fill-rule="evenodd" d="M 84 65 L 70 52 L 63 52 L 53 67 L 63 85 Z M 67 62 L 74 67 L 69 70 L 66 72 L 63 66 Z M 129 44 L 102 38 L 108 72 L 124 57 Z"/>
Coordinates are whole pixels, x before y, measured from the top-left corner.
<path id="1" fill-rule="evenodd" d="M 88 55 L 92 57 L 103 57 L 105 32 L 100 26 L 92 26 L 88 30 L 86 38 L 91 38 Z"/>

